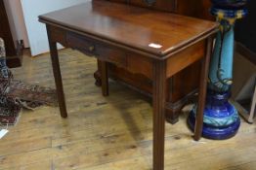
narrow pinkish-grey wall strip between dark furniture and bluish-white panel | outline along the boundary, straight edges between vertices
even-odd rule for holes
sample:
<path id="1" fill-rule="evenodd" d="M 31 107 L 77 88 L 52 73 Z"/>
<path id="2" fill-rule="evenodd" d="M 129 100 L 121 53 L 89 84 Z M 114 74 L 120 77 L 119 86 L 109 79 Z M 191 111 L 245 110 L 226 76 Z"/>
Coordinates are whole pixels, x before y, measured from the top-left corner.
<path id="1" fill-rule="evenodd" d="M 21 0 L 4 0 L 4 4 L 14 41 L 23 40 L 24 47 L 28 48 L 29 43 L 21 9 Z"/>

